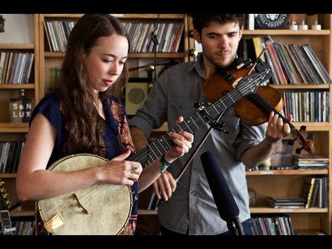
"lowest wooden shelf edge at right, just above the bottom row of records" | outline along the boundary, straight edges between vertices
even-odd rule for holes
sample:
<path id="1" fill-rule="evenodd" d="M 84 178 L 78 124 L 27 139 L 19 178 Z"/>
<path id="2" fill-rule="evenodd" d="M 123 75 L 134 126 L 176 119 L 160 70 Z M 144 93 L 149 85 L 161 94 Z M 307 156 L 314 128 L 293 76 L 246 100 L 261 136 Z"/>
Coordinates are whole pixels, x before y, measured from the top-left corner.
<path id="1" fill-rule="evenodd" d="M 273 213 L 327 213 L 328 208 L 265 208 L 250 207 L 251 214 L 273 214 Z"/>

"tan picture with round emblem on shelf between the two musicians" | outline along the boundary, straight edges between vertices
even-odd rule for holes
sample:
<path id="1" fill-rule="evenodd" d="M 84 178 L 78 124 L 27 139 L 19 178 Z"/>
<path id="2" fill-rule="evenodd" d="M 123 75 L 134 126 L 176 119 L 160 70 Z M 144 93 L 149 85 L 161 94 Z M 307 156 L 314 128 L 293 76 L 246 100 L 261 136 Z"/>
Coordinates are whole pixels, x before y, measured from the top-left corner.
<path id="1" fill-rule="evenodd" d="M 147 99 L 148 78 L 130 78 L 125 89 L 124 106 L 129 117 L 134 116 L 136 111 L 143 107 Z"/>

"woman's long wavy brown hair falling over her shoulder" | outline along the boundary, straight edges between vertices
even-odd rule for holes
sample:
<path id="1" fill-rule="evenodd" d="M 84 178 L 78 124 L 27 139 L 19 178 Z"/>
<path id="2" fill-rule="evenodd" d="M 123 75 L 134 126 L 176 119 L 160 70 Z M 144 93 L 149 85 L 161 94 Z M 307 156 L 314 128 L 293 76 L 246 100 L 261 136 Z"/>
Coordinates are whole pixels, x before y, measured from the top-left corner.
<path id="1" fill-rule="evenodd" d="M 104 156 L 102 152 L 105 149 L 102 139 L 104 122 L 94 105 L 96 100 L 84 70 L 83 55 L 91 53 L 91 48 L 98 45 L 100 37 L 113 34 L 127 37 L 129 42 L 127 31 L 116 17 L 108 14 L 87 14 L 77 21 L 68 37 L 59 80 L 59 94 L 68 134 L 65 151 L 69 154 L 92 153 Z M 101 100 L 113 94 L 115 85 L 121 84 L 122 88 L 127 81 L 126 63 L 122 75 L 114 86 L 100 93 Z"/>

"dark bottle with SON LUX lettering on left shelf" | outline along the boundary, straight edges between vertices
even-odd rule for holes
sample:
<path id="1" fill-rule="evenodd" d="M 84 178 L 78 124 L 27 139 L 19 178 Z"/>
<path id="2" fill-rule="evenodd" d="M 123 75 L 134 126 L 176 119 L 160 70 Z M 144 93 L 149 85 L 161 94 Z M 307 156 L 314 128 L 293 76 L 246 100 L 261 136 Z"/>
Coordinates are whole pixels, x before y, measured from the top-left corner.
<path id="1" fill-rule="evenodd" d="M 17 98 L 10 98 L 10 122 L 29 122 L 32 111 L 33 100 L 26 97 L 24 89 L 19 90 L 19 96 Z"/>

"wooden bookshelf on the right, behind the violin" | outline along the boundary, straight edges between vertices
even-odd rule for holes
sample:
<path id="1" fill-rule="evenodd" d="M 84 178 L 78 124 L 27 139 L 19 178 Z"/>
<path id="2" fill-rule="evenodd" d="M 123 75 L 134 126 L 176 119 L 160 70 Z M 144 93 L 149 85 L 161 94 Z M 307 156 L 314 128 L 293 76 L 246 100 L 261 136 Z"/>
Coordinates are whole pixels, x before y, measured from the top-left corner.
<path id="1" fill-rule="evenodd" d="M 304 17 L 305 18 L 305 17 Z M 332 73 L 331 63 L 331 28 L 332 15 L 320 14 L 318 20 L 322 24 L 322 30 L 244 30 L 243 37 L 264 37 L 270 35 L 274 42 L 284 44 L 310 44 L 315 53 L 320 58 L 322 64 Z M 309 25 L 310 26 L 310 25 Z M 274 85 L 275 89 L 281 92 L 301 92 L 301 91 L 326 91 L 331 98 L 331 84 L 286 84 Z M 308 132 L 315 136 L 315 155 L 324 155 L 332 161 L 332 129 L 331 129 L 331 108 L 329 107 L 330 120 L 326 122 L 293 122 L 299 129 L 302 125 L 306 126 L 304 137 Z M 292 139 L 293 136 L 288 136 Z M 298 143 L 293 145 L 293 154 Z M 302 151 L 306 154 L 306 151 Z M 295 234 L 305 233 L 306 231 L 324 232 L 332 234 L 332 209 L 328 208 L 268 208 L 266 196 L 299 196 L 305 177 L 327 176 L 331 179 L 331 165 L 329 169 L 302 169 L 302 170 L 257 170 L 247 172 L 248 187 L 255 190 L 257 201 L 250 207 L 250 212 L 255 216 L 261 214 L 288 214 L 295 229 Z M 331 200 L 331 185 L 329 185 L 329 200 Z M 315 234 L 315 233 L 313 233 Z"/>

